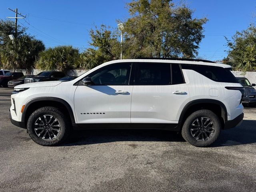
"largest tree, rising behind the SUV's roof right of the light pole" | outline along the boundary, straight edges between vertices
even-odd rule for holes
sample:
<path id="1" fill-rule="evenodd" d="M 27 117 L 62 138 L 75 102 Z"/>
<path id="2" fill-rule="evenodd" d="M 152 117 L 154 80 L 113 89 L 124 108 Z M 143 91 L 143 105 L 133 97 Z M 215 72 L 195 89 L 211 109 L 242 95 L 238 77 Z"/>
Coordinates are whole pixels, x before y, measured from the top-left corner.
<path id="1" fill-rule="evenodd" d="M 193 11 L 171 0 L 132 0 L 127 4 L 124 57 L 193 58 L 204 35 L 206 18 L 192 18 Z"/>

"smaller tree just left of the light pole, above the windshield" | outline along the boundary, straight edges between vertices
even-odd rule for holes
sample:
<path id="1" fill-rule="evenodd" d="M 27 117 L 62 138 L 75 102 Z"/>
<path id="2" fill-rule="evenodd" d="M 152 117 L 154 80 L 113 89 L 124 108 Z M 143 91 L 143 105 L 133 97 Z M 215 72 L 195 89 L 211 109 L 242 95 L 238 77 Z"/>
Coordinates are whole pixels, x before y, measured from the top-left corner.
<path id="1" fill-rule="evenodd" d="M 90 48 L 81 54 L 81 67 L 94 68 L 104 62 L 120 58 L 120 42 L 118 33 L 111 30 L 110 27 L 101 25 L 100 28 L 95 26 L 95 30 L 90 30 L 91 42 Z"/>

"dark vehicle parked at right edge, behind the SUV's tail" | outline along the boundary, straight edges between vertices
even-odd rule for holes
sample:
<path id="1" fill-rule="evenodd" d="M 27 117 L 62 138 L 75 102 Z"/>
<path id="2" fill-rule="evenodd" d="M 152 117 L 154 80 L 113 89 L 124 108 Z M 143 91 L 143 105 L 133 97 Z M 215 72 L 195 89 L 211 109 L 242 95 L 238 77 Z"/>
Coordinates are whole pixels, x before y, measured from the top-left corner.
<path id="1" fill-rule="evenodd" d="M 242 99 L 242 104 L 248 104 L 251 107 L 256 106 L 256 84 L 251 84 L 250 81 L 245 77 L 237 77 L 238 82 L 244 86 L 245 92 Z"/>

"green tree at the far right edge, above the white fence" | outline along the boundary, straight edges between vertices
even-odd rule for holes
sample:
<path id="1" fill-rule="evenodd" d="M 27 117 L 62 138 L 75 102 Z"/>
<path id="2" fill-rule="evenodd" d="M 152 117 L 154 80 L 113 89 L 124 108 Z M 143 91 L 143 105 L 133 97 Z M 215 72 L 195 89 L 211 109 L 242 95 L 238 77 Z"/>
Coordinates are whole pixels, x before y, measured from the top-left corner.
<path id="1" fill-rule="evenodd" d="M 256 26 L 236 32 L 232 40 L 227 40 L 228 57 L 232 66 L 240 71 L 256 70 Z"/>

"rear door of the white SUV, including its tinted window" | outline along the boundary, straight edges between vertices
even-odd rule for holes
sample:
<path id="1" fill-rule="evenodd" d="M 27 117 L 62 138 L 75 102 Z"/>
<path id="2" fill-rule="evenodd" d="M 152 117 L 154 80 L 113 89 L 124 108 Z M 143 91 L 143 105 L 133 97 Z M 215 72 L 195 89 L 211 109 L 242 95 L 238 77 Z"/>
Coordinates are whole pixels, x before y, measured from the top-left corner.
<path id="1" fill-rule="evenodd" d="M 179 64 L 137 63 L 132 91 L 132 123 L 178 123 L 190 101 Z"/>

